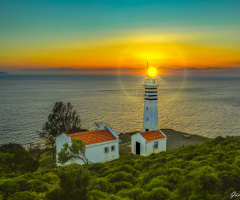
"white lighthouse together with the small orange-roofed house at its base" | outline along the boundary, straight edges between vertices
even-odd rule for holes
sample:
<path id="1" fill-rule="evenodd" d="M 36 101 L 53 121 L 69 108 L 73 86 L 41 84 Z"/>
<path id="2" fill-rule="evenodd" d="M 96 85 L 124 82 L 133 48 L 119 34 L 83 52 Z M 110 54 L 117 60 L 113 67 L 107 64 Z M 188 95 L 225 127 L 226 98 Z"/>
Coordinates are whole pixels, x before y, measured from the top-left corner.
<path id="1" fill-rule="evenodd" d="M 145 80 L 145 98 L 142 132 L 132 135 L 132 153 L 143 156 L 166 151 L 166 135 L 158 129 L 158 95 L 156 69 L 148 70 Z"/>

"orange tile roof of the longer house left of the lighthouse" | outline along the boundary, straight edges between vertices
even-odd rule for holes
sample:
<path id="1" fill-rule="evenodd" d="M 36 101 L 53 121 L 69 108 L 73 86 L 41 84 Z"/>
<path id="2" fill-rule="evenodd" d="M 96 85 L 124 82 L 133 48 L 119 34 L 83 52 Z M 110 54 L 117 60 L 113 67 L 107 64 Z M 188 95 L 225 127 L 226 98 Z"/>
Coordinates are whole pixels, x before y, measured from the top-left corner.
<path id="1" fill-rule="evenodd" d="M 73 141 L 75 138 L 79 138 L 85 142 L 86 145 L 116 140 L 116 138 L 108 129 L 68 134 L 67 136 L 71 137 L 71 141 Z"/>

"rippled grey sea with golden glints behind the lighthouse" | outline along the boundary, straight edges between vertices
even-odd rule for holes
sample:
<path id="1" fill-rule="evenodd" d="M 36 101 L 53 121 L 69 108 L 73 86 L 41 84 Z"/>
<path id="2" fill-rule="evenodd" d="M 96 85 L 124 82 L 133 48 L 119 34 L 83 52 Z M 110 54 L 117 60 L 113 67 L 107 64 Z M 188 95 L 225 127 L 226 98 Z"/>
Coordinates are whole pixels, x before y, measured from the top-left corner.
<path id="1" fill-rule="evenodd" d="M 57 101 L 71 102 L 84 128 L 108 124 L 141 131 L 144 76 L 0 76 L 0 144 L 41 142 L 38 131 Z M 240 135 L 239 76 L 158 77 L 159 128 L 209 138 Z"/>

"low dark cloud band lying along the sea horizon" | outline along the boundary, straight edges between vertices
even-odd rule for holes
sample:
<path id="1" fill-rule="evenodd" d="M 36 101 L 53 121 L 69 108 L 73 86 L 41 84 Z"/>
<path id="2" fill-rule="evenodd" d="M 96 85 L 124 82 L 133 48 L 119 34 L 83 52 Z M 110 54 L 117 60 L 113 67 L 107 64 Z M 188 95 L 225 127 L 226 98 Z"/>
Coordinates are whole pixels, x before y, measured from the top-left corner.
<path id="1" fill-rule="evenodd" d="M 240 62 L 235 62 L 229 66 L 216 66 L 216 67 L 158 67 L 162 74 L 240 74 Z M 0 68 L 1 70 L 1 68 Z M 145 67 L 133 68 L 133 67 L 57 67 L 57 68 L 26 68 L 18 69 L 15 71 L 2 70 L 10 73 L 17 74 L 144 74 L 146 72 Z M 160 72 L 160 73 L 161 73 Z"/>

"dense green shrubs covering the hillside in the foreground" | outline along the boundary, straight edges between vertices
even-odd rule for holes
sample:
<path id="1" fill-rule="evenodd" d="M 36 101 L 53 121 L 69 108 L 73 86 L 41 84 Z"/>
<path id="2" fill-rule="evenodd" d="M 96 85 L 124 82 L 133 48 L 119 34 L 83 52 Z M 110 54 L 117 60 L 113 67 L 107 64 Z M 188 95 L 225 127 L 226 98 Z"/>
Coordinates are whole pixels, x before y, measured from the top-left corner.
<path id="1" fill-rule="evenodd" d="M 40 167 L 30 171 L 28 159 L 9 170 L 14 153 L 0 153 L 3 200 L 223 200 L 240 193 L 240 137 L 218 137 L 148 157 L 123 155 L 108 163 L 59 168 L 51 167 L 51 153 L 45 152 Z"/>

